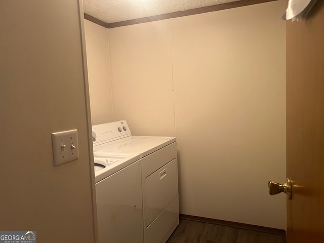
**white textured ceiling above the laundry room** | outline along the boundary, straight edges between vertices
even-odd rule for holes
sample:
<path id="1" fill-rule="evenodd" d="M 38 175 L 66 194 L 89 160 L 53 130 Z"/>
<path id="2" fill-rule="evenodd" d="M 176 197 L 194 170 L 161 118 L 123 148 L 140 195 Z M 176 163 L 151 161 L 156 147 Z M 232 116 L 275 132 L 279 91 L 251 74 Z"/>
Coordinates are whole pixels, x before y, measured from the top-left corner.
<path id="1" fill-rule="evenodd" d="M 84 12 L 106 23 L 236 2 L 239 0 L 83 0 Z"/>

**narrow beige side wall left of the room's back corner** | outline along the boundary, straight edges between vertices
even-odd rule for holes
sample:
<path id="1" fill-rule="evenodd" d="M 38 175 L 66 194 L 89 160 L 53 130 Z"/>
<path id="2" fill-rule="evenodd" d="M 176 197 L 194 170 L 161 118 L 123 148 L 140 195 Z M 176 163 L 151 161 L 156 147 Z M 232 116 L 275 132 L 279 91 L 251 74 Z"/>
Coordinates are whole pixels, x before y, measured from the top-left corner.
<path id="1" fill-rule="evenodd" d="M 92 125 L 109 123 L 112 116 L 108 30 L 85 20 Z"/>

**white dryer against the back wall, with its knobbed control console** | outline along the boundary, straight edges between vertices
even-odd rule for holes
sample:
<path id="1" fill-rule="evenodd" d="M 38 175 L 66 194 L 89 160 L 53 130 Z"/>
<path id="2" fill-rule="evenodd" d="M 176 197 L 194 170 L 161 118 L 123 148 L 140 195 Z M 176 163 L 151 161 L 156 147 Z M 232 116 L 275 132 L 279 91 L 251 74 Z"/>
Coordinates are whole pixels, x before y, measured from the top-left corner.
<path id="1" fill-rule="evenodd" d="M 92 131 L 96 135 L 95 156 L 139 154 L 144 242 L 165 243 L 179 224 L 176 138 L 132 136 L 125 120 L 94 125 Z"/>

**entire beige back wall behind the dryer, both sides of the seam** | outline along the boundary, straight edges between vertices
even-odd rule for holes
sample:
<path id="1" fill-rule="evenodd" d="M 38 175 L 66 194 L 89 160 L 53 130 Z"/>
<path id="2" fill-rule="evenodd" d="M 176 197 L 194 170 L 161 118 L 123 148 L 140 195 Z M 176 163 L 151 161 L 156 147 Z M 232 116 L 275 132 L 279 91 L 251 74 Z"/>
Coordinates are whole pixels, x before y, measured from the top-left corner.
<path id="1" fill-rule="evenodd" d="M 109 29 L 113 118 L 177 136 L 180 213 L 286 227 L 285 1 Z"/>

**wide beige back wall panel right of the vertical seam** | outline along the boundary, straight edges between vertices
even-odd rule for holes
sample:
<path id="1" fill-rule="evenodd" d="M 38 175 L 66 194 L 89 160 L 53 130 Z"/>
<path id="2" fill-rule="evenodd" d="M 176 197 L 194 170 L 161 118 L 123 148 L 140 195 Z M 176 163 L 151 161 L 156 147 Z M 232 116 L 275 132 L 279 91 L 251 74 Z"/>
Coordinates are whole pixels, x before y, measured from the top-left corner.
<path id="1" fill-rule="evenodd" d="M 286 227 L 285 1 L 175 19 L 181 213 Z"/>

